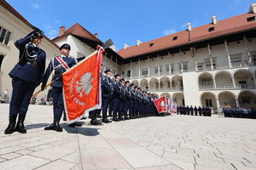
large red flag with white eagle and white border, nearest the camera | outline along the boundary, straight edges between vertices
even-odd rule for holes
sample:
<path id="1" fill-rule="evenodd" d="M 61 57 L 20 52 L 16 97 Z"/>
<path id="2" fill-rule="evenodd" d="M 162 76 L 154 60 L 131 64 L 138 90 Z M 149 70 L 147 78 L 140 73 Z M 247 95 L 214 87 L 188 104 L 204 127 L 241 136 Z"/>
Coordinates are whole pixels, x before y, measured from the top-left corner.
<path id="1" fill-rule="evenodd" d="M 98 47 L 98 50 L 62 75 L 68 124 L 79 121 L 85 112 L 102 107 L 100 82 L 102 53 L 104 49 Z"/>

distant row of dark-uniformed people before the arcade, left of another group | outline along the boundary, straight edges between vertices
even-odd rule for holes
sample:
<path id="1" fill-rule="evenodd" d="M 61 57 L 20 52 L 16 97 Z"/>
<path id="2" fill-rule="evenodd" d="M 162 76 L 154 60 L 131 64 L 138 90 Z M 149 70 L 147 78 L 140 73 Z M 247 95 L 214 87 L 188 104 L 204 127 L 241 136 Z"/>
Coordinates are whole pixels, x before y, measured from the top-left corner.
<path id="1" fill-rule="evenodd" d="M 212 116 L 212 109 L 211 107 L 205 107 L 205 106 L 195 106 L 193 107 L 192 105 L 180 105 L 177 106 L 177 115 L 191 115 L 191 116 Z"/>

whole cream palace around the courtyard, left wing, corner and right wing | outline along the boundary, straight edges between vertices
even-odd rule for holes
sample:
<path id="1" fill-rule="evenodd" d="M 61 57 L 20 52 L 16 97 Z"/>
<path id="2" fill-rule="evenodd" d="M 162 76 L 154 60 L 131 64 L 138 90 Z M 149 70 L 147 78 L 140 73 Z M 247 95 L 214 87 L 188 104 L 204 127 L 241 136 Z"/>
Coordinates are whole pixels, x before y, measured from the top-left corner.
<path id="1" fill-rule="evenodd" d="M 210 106 L 213 111 L 219 105 L 255 107 L 255 17 L 256 3 L 252 3 L 245 14 L 224 20 L 212 15 L 207 25 L 193 27 L 188 23 L 184 31 L 148 42 L 135 40 L 119 51 L 111 46 L 104 53 L 102 70 L 111 69 L 154 95 L 166 95 L 177 105 Z M 11 95 L 8 74 L 19 56 L 14 42 L 33 29 L 15 8 L 0 0 L 1 93 L 9 89 Z M 103 43 L 97 33 L 79 23 L 68 29 L 61 26 L 57 37 L 46 37 L 40 45 L 47 54 L 47 65 L 66 42 L 74 58 L 88 56 Z M 47 93 L 38 94 L 38 100 Z"/>

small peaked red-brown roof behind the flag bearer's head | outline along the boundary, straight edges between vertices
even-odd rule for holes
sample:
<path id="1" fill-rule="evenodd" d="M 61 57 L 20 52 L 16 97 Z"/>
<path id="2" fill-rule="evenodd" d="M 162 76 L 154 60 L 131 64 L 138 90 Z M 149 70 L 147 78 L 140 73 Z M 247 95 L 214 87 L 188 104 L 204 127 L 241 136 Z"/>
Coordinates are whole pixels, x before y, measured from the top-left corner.
<path id="1" fill-rule="evenodd" d="M 72 34 L 75 36 L 79 36 L 79 37 L 84 37 L 96 42 L 101 42 L 102 41 L 98 38 L 96 38 L 95 35 L 91 34 L 90 31 L 87 31 L 83 26 L 79 25 L 79 23 L 74 24 L 73 26 L 71 26 L 69 29 L 67 29 L 67 31 L 64 32 L 63 36 L 67 36 L 68 34 Z M 61 36 L 61 37 L 63 37 Z M 53 40 L 57 40 L 59 37 L 55 37 Z"/>

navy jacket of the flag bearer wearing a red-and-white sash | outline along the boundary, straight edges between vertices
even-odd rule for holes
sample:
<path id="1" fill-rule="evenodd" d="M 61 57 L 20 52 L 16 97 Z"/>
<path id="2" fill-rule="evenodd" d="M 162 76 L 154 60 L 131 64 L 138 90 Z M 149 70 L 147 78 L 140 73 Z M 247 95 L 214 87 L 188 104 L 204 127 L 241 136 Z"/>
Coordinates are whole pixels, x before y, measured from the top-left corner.
<path id="1" fill-rule="evenodd" d="M 73 57 L 62 57 L 62 59 L 67 63 L 68 67 L 71 68 L 73 65 L 77 64 L 77 59 L 74 59 Z M 47 80 L 49 78 L 50 73 L 55 70 L 55 75 L 52 78 L 52 80 L 56 80 L 58 77 L 60 77 L 57 81 L 51 84 L 52 87 L 55 88 L 62 88 L 63 87 L 63 82 L 62 82 L 62 73 L 66 71 L 66 69 L 61 65 L 61 63 L 53 58 L 49 62 L 48 68 L 45 71 L 44 74 L 44 79 L 43 79 L 43 84 L 47 83 Z"/>

